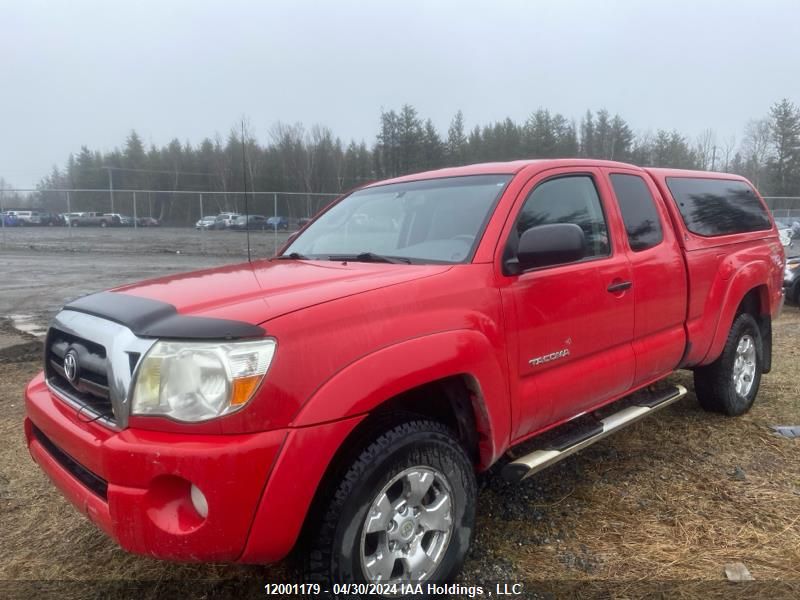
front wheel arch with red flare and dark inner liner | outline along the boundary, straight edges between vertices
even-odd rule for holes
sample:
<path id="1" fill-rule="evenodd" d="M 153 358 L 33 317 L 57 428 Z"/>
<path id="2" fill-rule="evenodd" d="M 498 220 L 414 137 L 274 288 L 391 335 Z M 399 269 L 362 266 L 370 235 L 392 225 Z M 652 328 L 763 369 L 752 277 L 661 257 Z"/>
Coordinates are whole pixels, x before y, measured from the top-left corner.
<path id="1" fill-rule="evenodd" d="M 482 333 L 452 330 L 382 348 L 332 376 L 302 406 L 294 427 L 368 414 L 410 412 L 451 426 L 486 469 L 510 435 L 507 379 Z M 471 429 L 471 431 L 470 431 Z"/>

